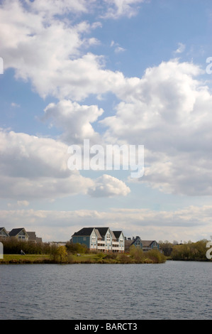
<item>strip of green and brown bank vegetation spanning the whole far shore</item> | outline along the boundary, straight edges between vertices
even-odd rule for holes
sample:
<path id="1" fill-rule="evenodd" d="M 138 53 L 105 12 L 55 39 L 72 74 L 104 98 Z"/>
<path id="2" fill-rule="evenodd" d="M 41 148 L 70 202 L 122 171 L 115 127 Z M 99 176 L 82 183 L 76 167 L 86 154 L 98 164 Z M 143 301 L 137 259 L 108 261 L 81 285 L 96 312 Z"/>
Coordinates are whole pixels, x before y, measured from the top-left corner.
<path id="1" fill-rule="evenodd" d="M 212 261 L 206 257 L 207 240 L 177 244 L 160 242 L 161 252 L 152 249 L 143 252 L 135 246 L 128 253 L 91 252 L 85 245 L 57 244 L 18 241 L 4 241 L 4 259 L 0 264 L 156 264 L 166 260 Z M 21 250 L 26 255 L 21 255 Z M 212 251 L 211 251 L 212 253 Z"/>

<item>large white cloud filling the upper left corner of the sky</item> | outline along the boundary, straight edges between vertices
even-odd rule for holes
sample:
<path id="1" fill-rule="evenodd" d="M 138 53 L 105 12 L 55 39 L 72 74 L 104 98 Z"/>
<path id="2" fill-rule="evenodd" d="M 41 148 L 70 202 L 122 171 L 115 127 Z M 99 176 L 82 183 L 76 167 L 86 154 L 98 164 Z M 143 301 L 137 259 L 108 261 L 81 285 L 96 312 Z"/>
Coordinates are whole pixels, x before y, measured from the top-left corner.
<path id="1" fill-rule="evenodd" d="M 53 2 L 51 11 L 54 12 L 58 3 Z M 74 1 L 70 4 L 75 6 Z M 104 57 L 87 51 L 99 43 L 89 37 L 99 23 L 73 24 L 67 18 L 43 16 L 43 11 L 49 8 L 50 1 L 47 4 L 34 1 L 28 9 L 18 0 L 4 1 L 0 6 L 1 56 L 5 70 L 13 68 L 16 78 L 29 80 L 41 97 L 52 95 L 79 101 L 90 94 L 110 92 L 111 84 L 118 89 L 123 74 L 106 70 Z"/>

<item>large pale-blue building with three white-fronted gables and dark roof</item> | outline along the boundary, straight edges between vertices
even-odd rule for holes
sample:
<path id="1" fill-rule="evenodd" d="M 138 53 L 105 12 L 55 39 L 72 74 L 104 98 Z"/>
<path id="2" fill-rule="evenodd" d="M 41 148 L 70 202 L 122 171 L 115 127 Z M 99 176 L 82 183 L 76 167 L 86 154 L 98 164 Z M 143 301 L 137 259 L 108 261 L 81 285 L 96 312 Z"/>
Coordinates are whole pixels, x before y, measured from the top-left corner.
<path id="1" fill-rule="evenodd" d="M 112 231 L 109 227 L 84 227 L 72 235 L 71 242 L 85 244 L 90 250 L 124 252 L 125 238 L 122 231 Z"/>

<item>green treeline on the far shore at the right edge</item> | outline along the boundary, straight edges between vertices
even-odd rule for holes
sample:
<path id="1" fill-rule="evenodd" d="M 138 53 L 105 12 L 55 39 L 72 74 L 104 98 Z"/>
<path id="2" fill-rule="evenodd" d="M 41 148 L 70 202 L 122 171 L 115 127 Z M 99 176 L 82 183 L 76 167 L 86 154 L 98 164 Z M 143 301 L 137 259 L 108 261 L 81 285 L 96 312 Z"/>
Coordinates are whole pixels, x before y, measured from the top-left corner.
<path id="1" fill-rule="evenodd" d="M 202 239 L 198 242 L 184 242 L 177 244 L 168 241 L 159 242 L 163 254 L 169 259 L 173 260 L 187 260 L 187 261 L 208 261 L 206 257 L 206 244 L 208 240 Z"/>

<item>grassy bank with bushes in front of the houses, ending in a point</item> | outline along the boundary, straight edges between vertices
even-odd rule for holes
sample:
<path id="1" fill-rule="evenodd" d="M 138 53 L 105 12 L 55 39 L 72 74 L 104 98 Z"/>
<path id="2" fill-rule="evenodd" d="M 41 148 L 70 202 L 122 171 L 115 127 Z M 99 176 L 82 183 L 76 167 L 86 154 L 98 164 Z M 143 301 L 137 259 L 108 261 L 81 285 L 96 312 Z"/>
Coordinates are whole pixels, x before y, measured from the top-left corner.
<path id="1" fill-rule="evenodd" d="M 25 255 L 21 255 L 21 251 Z M 164 255 L 157 250 L 143 252 L 134 246 L 128 254 L 103 253 L 89 252 L 81 244 L 57 246 L 13 239 L 4 242 L 4 259 L 0 259 L 0 264 L 155 264 L 165 261 Z"/>

